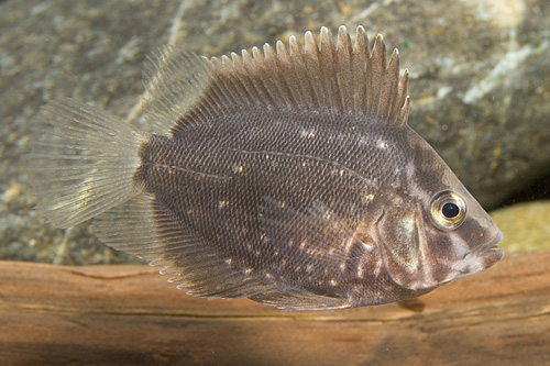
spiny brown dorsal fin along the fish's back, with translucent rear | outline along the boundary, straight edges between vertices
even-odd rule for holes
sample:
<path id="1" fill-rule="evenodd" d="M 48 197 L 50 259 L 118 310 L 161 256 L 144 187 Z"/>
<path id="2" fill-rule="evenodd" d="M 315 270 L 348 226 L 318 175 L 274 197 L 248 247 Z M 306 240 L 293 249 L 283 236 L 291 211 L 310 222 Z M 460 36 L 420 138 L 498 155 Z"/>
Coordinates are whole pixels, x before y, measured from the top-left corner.
<path id="1" fill-rule="evenodd" d="M 173 133 L 248 107 L 364 113 L 405 125 L 407 70 L 399 79 L 397 49 L 387 63 L 385 53 L 382 35 L 371 48 L 362 26 L 354 44 L 345 26 L 340 26 L 337 43 L 328 29 L 321 27 L 319 43 L 306 32 L 304 45 L 290 36 L 288 44 L 265 44 L 263 52 L 253 47 L 242 51 L 241 56 L 232 53 L 208 60 L 170 51 L 157 57 L 160 66 L 152 58 L 147 66 L 158 74 L 147 76 L 154 81 L 148 85 L 158 89 L 147 88 L 153 117 L 164 120 L 166 126 L 170 123 Z M 191 87 L 185 92 L 182 86 L 189 80 Z"/>

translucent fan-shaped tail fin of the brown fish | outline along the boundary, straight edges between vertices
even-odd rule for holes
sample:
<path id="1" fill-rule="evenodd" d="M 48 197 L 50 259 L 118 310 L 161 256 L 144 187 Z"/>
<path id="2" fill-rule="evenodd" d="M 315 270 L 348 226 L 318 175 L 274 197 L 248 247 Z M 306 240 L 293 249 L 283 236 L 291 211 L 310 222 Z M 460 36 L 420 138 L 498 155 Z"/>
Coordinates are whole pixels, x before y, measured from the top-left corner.
<path id="1" fill-rule="evenodd" d="M 33 123 L 29 175 L 36 209 L 55 226 L 73 226 L 141 193 L 133 175 L 146 136 L 124 121 L 63 99 L 44 106 Z"/>

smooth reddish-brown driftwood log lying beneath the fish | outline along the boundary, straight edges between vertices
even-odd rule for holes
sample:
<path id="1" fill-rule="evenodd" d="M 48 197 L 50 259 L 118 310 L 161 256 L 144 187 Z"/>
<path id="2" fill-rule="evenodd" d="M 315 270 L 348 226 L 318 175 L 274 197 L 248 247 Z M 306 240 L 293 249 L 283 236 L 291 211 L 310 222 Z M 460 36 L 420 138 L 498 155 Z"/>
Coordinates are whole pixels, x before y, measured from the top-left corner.
<path id="1" fill-rule="evenodd" d="M 147 266 L 0 262 L 1 365 L 550 365 L 550 251 L 328 312 L 186 296 Z"/>

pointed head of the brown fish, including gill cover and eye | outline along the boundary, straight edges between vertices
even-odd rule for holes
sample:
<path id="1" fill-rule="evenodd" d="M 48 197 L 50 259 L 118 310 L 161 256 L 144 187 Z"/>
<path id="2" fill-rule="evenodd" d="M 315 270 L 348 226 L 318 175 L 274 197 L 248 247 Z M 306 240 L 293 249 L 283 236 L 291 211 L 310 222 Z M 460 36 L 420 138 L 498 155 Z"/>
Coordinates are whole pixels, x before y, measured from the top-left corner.
<path id="1" fill-rule="evenodd" d="M 387 196 L 371 237 L 392 280 L 428 291 L 502 259 L 503 233 L 436 151 L 416 133 L 413 141 L 406 178 Z"/>

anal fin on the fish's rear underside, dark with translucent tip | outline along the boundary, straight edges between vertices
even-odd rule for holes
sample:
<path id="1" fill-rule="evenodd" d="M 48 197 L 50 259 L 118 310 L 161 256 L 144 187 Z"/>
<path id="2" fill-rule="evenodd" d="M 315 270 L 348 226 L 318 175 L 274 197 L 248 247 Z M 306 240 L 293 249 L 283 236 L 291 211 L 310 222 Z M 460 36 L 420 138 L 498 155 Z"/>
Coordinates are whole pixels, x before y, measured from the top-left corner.
<path id="1" fill-rule="evenodd" d="M 94 220 L 96 235 L 107 245 L 144 259 L 187 293 L 213 298 L 251 297 L 265 291 L 231 262 L 220 258 L 200 234 L 141 195 Z"/>

